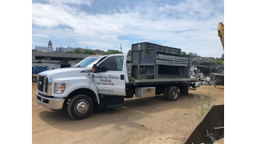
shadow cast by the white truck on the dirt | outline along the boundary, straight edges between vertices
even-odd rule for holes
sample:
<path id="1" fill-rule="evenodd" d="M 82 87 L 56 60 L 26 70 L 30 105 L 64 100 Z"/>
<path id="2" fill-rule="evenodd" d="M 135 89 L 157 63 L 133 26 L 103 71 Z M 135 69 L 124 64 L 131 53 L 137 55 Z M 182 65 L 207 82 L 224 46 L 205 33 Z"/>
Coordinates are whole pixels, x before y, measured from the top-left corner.
<path id="1" fill-rule="evenodd" d="M 82 131 L 94 129 L 104 125 L 114 124 L 114 129 L 121 129 L 122 125 L 136 129 L 148 130 L 145 125 L 136 123 L 141 118 L 154 116 L 154 113 L 171 109 L 191 109 L 195 107 L 193 94 L 180 95 L 177 101 L 164 100 L 161 96 L 145 99 L 126 99 L 124 106 L 116 108 L 101 108 L 83 120 L 73 120 L 65 111 L 42 111 L 39 117 L 47 124 L 56 129 L 68 131 Z M 63 126 L 65 125 L 65 126 Z"/>

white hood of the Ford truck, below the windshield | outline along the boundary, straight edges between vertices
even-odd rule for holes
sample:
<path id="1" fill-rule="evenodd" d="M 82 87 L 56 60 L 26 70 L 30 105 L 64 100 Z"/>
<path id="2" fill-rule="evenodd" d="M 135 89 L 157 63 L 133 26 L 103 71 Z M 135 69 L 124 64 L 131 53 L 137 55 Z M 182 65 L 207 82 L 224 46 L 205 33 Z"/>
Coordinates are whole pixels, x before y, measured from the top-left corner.
<path id="1" fill-rule="evenodd" d="M 92 72 L 92 68 L 58 68 L 40 72 L 38 75 L 51 76 L 52 79 L 56 79 L 60 77 L 84 76 L 88 72 Z"/>

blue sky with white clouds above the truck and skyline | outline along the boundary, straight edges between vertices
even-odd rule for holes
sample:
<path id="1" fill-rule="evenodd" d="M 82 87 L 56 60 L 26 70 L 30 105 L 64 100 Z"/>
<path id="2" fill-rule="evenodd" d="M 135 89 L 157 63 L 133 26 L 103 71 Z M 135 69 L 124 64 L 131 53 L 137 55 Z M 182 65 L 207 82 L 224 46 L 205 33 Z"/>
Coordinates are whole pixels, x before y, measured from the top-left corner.
<path id="1" fill-rule="evenodd" d="M 32 49 L 47 46 L 120 50 L 152 42 L 200 56 L 221 57 L 217 26 L 224 1 L 32 1 Z"/>

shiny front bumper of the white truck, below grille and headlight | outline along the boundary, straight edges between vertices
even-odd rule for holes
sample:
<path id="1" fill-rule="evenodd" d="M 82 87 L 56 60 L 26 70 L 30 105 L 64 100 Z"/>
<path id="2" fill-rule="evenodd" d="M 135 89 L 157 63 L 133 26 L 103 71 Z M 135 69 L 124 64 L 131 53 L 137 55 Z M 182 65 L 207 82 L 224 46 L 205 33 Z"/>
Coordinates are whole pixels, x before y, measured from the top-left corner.
<path id="1" fill-rule="evenodd" d="M 41 105 L 44 108 L 62 109 L 64 100 L 65 99 L 45 97 L 44 95 L 41 95 L 40 93 L 36 92 L 36 102 L 38 106 Z"/>

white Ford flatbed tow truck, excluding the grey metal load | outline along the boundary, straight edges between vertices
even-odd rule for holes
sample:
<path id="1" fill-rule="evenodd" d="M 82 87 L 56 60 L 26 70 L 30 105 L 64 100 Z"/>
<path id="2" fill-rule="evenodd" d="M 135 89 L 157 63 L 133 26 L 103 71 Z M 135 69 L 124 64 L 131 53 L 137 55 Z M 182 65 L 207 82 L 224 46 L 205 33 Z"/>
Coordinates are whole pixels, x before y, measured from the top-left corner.
<path id="1" fill-rule="evenodd" d="M 173 56 L 169 57 L 173 58 Z M 132 98 L 134 94 L 143 99 L 163 93 L 165 99 L 177 100 L 179 93 L 188 95 L 189 84 L 196 81 L 187 75 L 184 76 L 183 71 L 189 70 L 188 66 L 182 66 L 185 69 L 181 69 L 183 74 L 178 77 L 167 73 L 160 74 L 161 72 L 156 76 L 154 72 L 150 74 L 149 71 L 152 71 L 150 69 L 147 72 L 146 66 L 153 68 L 152 65 L 143 65 L 143 63 L 140 65 L 131 63 L 132 67 L 138 67 L 138 69 L 131 70 L 133 73 L 138 72 L 138 76 L 134 76 L 136 77 L 134 79 L 128 76 L 126 61 L 125 54 L 90 56 L 73 68 L 41 72 L 38 74 L 36 102 L 49 109 L 65 109 L 71 118 L 77 120 L 86 118 L 93 109 L 122 106 L 124 98 Z M 160 68 L 159 71 L 164 68 Z M 177 68 L 177 65 L 173 68 Z M 188 71 L 185 73 L 189 74 Z M 166 77 L 161 78 L 161 76 Z"/>

